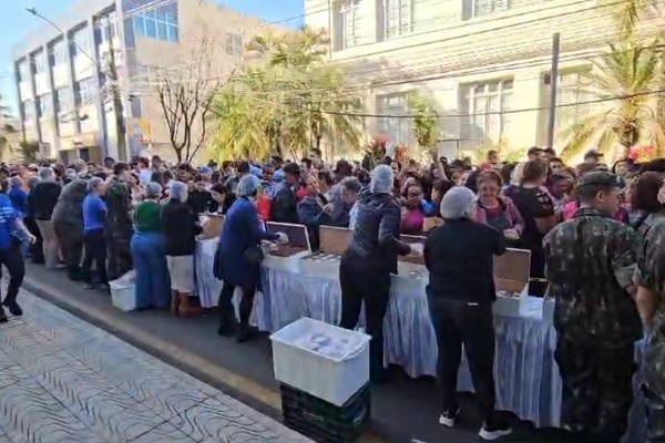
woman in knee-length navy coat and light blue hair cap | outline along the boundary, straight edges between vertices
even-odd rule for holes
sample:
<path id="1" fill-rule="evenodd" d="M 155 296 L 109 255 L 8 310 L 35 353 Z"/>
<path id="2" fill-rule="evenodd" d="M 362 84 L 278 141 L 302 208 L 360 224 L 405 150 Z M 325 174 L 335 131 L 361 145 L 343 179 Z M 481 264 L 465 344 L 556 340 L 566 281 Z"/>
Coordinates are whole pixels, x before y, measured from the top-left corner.
<path id="1" fill-rule="evenodd" d="M 245 175 L 236 188 L 237 199 L 228 208 L 219 244 L 215 254 L 215 277 L 224 281 L 219 293 L 219 336 L 229 336 L 235 330 L 235 316 L 232 305 L 233 293 L 239 287 L 241 326 L 237 341 L 250 339 L 249 316 L 254 307 L 254 295 L 260 285 L 262 240 L 286 243 L 284 234 L 269 234 L 262 229 L 256 199 L 260 192 L 260 181 L 254 175 Z"/>

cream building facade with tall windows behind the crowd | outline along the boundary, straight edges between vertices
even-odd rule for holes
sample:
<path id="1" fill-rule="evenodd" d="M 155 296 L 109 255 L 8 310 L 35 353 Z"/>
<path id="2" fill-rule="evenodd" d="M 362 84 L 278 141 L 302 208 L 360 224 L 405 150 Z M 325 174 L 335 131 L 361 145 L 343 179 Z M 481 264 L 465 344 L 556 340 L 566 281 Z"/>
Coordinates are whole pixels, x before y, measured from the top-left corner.
<path id="1" fill-rule="evenodd" d="M 330 60 L 365 93 L 368 135 L 413 145 L 410 93 L 440 112 L 440 151 L 546 142 L 553 34 L 561 35 L 555 146 L 592 101 L 591 60 L 617 39 L 597 0 L 305 0 L 307 24 L 328 29 Z M 647 17 L 641 37 L 662 18 Z M 606 104 L 605 104 L 606 105 Z"/>

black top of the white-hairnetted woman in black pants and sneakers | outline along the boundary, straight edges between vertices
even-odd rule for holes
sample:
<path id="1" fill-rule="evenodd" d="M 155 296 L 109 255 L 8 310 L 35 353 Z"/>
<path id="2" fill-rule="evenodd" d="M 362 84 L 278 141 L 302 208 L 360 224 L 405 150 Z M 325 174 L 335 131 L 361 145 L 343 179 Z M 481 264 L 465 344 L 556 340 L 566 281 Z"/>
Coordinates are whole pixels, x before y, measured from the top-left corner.
<path id="1" fill-rule="evenodd" d="M 427 293 L 473 303 L 497 299 L 494 256 L 505 253 L 503 235 L 469 219 L 446 220 L 424 243 Z"/>

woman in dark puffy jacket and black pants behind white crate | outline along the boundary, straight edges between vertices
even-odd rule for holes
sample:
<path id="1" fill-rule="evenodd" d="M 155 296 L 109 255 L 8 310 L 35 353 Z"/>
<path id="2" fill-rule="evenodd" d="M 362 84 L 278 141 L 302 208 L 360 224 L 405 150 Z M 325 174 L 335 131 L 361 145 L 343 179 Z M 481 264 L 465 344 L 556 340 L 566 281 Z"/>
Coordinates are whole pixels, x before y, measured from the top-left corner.
<path id="1" fill-rule="evenodd" d="M 418 251 L 399 240 L 401 210 L 392 196 L 393 173 L 379 165 L 371 173 L 368 189 L 360 193 L 352 239 L 341 256 L 340 327 L 354 329 L 365 302 L 370 341 L 370 377 L 383 379 L 383 316 L 390 293 L 390 274 L 397 274 L 397 256 Z"/>

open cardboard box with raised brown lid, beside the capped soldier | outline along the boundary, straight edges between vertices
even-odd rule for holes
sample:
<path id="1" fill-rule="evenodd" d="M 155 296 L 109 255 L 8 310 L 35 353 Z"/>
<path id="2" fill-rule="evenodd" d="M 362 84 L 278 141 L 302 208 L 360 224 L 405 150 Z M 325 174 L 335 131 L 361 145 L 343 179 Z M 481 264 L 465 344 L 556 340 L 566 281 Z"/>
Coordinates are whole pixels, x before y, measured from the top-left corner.
<path id="1" fill-rule="evenodd" d="M 529 297 L 529 275 L 531 251 L 509 248 L 505 254 L 494 257 L 494 285 L 497 302 L 494 313 L 519 317 L 522 305 Z M 507 292 L 507 295 L 500 295 Z"/>

